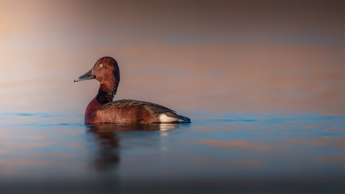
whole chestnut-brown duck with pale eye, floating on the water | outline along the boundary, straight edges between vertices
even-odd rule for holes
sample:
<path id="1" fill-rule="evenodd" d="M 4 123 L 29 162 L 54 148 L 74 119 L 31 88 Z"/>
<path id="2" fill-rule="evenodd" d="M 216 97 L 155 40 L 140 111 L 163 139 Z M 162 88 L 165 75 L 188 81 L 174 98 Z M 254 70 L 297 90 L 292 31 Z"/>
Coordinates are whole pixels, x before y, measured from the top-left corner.
<path id="1" fill-rule="evenodd" d="M 74 81 L 96 79 L 100 82 L 98 94 L 85 110 L 85 123 L 190 123 L 190 119 L 177 115 L 174 110 L 158 104 L 137 100 L 112 101 L 120 81 L 117 61 L 102 57 L 86 74 Z"/>

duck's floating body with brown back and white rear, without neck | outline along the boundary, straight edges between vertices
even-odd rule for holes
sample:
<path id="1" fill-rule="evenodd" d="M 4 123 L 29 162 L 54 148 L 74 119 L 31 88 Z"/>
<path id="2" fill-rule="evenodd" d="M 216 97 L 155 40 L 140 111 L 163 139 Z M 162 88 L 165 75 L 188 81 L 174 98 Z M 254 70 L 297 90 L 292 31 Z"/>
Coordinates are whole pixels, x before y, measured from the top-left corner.
<path id="1" fill-rule="evenodd" d="M 177 115 L 164 106 L 137 100 L 116 100 L 96 110 L 86 123 L 156 123 L 186 122 L 190 119 Z"/>

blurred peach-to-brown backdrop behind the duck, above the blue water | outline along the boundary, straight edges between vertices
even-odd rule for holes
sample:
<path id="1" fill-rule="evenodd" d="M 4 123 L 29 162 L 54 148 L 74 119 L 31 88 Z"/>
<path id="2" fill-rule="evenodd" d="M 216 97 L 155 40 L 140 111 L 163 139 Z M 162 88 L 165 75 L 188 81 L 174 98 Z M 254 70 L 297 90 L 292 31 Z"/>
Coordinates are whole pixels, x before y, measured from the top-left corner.
<path id="1" fill-rule="evenodd" d="M 1 112 L 84 114 L 115 58 L 116 99 L 189 115 L 344 114 L 344 1 L 1 1 Z M 197 113 L 197 114 L 196 114 Z"/>

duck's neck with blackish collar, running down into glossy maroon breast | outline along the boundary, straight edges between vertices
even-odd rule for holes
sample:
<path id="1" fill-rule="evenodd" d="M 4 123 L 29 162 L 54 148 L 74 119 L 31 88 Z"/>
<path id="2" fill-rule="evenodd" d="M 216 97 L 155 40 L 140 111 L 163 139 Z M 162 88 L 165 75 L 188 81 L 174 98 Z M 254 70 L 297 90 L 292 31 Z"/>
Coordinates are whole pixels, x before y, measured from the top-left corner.
<path id="1" fill-rule="evenodd" d="M 91 100 L 89 105 L 87 105 L 85 110 L 85 123 L 92 117 L 92 114 L 98 110 L 101 106 L 110 103 L 112 99 L 114 98 L 114 92 L 111 91 L 104 91 L 104 88 L 101 84 L 101 86 L 98 89 L 98 93 L 95 98 Z"/>

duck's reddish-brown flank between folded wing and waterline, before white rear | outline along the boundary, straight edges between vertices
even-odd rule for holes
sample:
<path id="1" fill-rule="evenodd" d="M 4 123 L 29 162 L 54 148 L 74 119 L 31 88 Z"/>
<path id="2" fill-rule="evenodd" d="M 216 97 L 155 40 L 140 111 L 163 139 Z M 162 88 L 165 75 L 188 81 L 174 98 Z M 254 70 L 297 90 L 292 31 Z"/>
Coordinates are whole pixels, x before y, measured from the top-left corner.
<path id="1" fill-rule="evenodd" d="M 141 105 L 96 110 L 86 123 L 152 123 L 151 112 Z"/>

